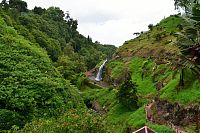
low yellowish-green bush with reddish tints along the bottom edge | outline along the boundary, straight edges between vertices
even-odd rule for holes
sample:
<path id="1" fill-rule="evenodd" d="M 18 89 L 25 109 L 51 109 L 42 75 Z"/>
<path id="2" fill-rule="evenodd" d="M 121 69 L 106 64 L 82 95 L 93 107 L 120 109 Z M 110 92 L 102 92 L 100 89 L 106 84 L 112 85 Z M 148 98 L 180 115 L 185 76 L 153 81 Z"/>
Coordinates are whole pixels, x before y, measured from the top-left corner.
<path id="1" fill-rule="evenodd" d="M 26 124 L 26 132 L 108 132 L 103 119 L 93 111 L 71 109 L 57 119 L 39 119 Z"/>

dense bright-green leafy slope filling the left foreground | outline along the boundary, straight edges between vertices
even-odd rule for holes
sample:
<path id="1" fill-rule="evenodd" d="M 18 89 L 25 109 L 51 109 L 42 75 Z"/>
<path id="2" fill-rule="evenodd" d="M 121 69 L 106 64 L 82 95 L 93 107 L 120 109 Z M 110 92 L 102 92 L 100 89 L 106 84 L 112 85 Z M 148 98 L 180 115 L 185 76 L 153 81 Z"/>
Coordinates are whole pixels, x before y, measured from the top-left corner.
<path id="1" fill-rule="evenodd" d="M 46 52 L 18 35 L 2 18 L 0 21 L 1 129 L 79 106 L 80 98 L 73 94 L 77 90 L 55 70 Z M 11 119 L 16 123 L 10 123 Z"/>

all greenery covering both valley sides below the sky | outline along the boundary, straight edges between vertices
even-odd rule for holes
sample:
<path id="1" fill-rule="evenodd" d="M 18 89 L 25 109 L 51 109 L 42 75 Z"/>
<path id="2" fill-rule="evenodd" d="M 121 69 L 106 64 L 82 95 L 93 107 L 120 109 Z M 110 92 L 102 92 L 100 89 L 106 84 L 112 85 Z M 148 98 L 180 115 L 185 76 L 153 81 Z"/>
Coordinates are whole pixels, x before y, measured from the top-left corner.
<path id="1" fill-rule="evenodd" d="M 174 6 L 117 48 L 59 7 L 2 0 L 0 132 L 200 132 L 200 1 Z"/>

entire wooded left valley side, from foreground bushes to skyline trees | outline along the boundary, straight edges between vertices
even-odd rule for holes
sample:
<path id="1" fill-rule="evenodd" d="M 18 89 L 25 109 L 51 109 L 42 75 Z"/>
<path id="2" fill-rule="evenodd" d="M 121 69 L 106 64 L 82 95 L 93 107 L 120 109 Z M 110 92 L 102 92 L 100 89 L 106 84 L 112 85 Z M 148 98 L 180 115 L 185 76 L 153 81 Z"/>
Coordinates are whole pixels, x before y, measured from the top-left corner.
<path id="1" fill-rule="evenodd" d="M 103 131 L 77 79 L 116 47 L 79 34 L 77 20 L 57 7 L 28 10 L 21 0 L 0 6 L 0 132 L 28 122 L 22 132 Z"/>

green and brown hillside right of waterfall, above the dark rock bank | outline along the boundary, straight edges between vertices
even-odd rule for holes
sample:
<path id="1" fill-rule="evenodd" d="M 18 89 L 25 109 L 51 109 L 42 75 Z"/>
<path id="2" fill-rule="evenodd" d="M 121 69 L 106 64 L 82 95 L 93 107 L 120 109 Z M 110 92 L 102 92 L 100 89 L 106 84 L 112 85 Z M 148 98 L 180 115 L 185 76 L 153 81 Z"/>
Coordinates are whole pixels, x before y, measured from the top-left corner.
<path id="1" fill-rule="evenodd" d="M 157 93 L 156 84 L 162 81 L 164 88 L 160 91 L 160 95 L 163 100 L 185 105 L 199 102 L 200 84 L 195 79 L 194 74 L 189 70 L 185 72 L 187 75 L 185 76 L 186 86 L 177 94 L 175 87 L 179 83 L 179 73 L 174 75 L 173 68 L 166 60 L 167 56 L 173 57 L 179 53 L 175 46 L 174 33 L 179 31 L 178 26 L 181 23 L 183 21 L 177 15 L 170 16 L 154 26 L 152 31 L 147 31 L 139 37 L 125 42 L 116 53 L 120 58 L 114 59 L 108 64 L 111 77 L 122 77 L 121 71 L 127 69 L 128 64 L 132 80 L 138 85 L 139 96 L 144 98 L 155 96 Z M 159 61 L 164 63 L 157 63 Z M 113 62 L 115 65 L 112 65 Z M 146 64 L 144 64 L 145 62 Z M 146 72 L 142 80 L 142 72 L 144 71 Z"/>

